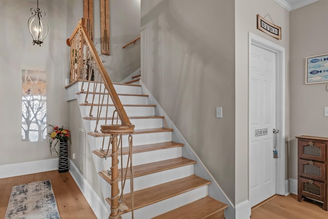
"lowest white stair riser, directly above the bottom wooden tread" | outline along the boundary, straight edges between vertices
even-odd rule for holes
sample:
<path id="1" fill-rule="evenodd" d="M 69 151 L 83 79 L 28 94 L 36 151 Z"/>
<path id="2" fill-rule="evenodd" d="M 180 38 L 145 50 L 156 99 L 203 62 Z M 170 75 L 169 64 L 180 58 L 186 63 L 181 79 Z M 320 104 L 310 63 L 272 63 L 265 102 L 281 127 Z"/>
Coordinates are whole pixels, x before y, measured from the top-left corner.
<path id="1" fill-rule="evenodd" d="M 134 211 L 134 218 L 149 219 L 183 205 L 187 205 L 205 196 L 207 196 L 207 186 L 202 186 L 200 188 L 173 196 L 152 205 L 139 208 Z M 122 219 L 131 219 L 131 212 L 122 214 L 121 217 Z"/>

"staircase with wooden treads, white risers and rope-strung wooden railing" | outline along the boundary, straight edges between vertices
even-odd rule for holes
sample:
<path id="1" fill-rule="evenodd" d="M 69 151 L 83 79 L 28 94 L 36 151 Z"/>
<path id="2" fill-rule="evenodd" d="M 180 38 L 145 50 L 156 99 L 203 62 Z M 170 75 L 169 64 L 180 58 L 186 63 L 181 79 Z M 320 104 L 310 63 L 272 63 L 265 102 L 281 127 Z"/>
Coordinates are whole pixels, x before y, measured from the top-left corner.
<path id="1" fill-rule="evenodd" d="M 67 89 L 69 99 L 77 99 L 84 118 L 109 218 L 131 218 L 132 209 L 136 219 L 224 218 L 227 205 L 208 196 L 211 181 L 194 174 L 196 161 L 182 157 L 183 144 L 172 142 L 173 129 L 163 127 L 165 117 L 155 115 L 156 105 L 142 94 L 139 79 L 132 78 L 129 84 L 112 83 L 85 26 L 82 18 L 67 40 L 71 47 Z M 130 167 L 125 168 L 130 154 L 133 181 Z M 123 178 L 124 188 L 118 183 Z M 125 208 L 119 204 L 119 191 Z"/>

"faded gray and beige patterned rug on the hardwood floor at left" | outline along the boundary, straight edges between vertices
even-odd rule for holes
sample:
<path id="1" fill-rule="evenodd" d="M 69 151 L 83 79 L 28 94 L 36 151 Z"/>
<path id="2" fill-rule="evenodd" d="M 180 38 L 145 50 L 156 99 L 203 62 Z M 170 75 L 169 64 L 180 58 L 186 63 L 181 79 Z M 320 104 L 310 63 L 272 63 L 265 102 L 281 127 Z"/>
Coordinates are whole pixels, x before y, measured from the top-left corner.
<path id="1" fill-rule="evenodd" d="M 59 219 L 50 180 L 13 186 L 5 219 Z"/>

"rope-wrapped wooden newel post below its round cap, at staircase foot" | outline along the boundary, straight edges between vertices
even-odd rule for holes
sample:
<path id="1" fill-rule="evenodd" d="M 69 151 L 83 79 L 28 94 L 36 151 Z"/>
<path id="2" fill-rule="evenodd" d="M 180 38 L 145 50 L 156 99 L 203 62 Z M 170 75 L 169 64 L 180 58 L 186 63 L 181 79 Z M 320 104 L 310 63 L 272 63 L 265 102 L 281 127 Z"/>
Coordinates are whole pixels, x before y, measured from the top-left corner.
<path id="1" fill-rule="evenodd" d="M 118 189 L 118 144 L 117 144 L 117 134 L 113 135 L 112 140 L 112 188 L 111 188 L 111 214 L 109 218 L 121 218 L 121 216 L 118 216 L 118 207 L 119 207 L 119 189 Z M 117 217 L 118 216 L 118 217 Z"/>

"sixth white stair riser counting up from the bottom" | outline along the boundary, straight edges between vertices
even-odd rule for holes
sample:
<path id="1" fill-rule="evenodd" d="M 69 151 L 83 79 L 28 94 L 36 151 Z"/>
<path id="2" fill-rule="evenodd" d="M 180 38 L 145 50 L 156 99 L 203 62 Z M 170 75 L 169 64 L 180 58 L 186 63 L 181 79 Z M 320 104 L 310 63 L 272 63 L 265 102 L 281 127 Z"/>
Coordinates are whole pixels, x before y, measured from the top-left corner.
<path id="1" fill-rule="evenodd" d="M 92 108 L 92 113 L 91 115 L 93 115 L 94 117 L 96 117 L 98 115 L 98 106 L 93 106 Z M 153 116 L 155 115 L 155 107 L 143 107 L 143 106 L 125 106 L 124 109 L 127 113 L 128 116 Z M 80 111 L 81 111 L 81 115 L 82 116 L 90 116 L 90 109 L 91 106 L 80 106 Z M 107 112 L 107 117 L 112 117 L 113 116 L 113 112 L 115 110 L 114 106 L 109 106 L 108 107 L 108 112 Z M 100 109 L 99 109 L 100 111 Z M 100 111 L 100 116 L 101 117 L 105 117 L 106 116 L 106 106 L 101 108 Z"/>

